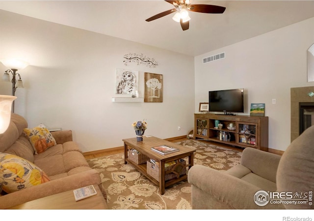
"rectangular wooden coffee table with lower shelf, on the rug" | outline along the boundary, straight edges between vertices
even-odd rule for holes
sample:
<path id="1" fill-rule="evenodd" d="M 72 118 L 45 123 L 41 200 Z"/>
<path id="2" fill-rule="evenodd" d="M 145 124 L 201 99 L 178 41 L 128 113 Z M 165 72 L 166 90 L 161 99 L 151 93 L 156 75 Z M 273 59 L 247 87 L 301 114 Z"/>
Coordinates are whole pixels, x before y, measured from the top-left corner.
<path id="1" fill-rule="evenodd" d="M 174 178 L 174 179 L 165 181 L 165 163 L 188 157 L 188 162 L 186 166 L 190 168 L 191 166 L 193 166 L 193 153 L 195 152 L 195 150 L 167 141 L 167 140 L 164 140 L 164 139 L 156 138 L 156 137 L 144 137 L 143 141 L 136 141 L 136 138 L 123 139 L 123 141 L 124 141 L 125 164 L 127 163 L 131 164 L 139 172 L 141 172 L 144 176 L 146 176 L 147 179 L 149 179 L 154 184 L 159 186 L 160 194 L 165 193 L 166 187 L 169 187 L 175 183 L 178 183 L 182 180 L 187 179 L 187 174 L 183 174 L 179 178 Z M 168 145 L 168 146 L 176 147 L 180 149 L 180 151 L 163 155 L 163 154 L 159 154 L 151 150 L 152 147 L 159 146 L 159 145 Z M 159 162 L 159 182 L 154 177 L 152 177 L 150 174 L 147 173 L 147 164 L 137 165 L 136 163 L 128 159 L 128 149 L 132 149 L 132 148 L 136 149 L 137 151 L 141 152 L 147 157 Z"/>

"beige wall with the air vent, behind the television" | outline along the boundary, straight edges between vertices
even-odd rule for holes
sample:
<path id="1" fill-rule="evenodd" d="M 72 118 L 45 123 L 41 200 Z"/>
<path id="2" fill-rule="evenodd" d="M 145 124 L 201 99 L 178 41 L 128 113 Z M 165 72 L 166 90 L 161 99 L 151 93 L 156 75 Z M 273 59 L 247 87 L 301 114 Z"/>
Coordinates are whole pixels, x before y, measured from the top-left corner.
<path id="1" fill-rule="evenodd" d="M 290 88 L 307 82 L 307 49 L 314 43 L 314 18 L 195 57 L 195 111 L 208 102 L 209 90 L 244 88 L 245 113 L 251 103 L 265 103 L 269 147 L 290 143 Z M 203 58 L 226 58 L 203 64 Z M 272 104 L 276 99 L 276 104 Z"/>

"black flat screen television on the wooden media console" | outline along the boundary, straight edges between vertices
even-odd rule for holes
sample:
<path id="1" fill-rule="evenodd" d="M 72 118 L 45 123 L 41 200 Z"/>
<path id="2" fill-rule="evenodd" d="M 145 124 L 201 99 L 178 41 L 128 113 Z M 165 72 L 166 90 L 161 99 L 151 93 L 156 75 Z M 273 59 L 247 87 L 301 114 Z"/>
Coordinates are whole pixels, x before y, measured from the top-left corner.
<path id="1" fill-rule="evenodd" d="M 214 90 L 209 91 L 209 111 L 224 112 L 244 112 L 244 89 Z"/>

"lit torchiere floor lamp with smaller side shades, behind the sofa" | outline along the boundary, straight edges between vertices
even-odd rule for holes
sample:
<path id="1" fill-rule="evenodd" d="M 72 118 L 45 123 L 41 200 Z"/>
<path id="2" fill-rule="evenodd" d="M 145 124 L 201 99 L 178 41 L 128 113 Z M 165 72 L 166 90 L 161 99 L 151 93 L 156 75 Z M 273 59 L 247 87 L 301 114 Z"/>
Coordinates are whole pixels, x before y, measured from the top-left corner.
<path id="1" fill-rule="evenodd" d="M 17 59 L 8 59 L 8 58 L 1 58 L 1 63 L 4 64 L 8 70 L 6 70 L 2 76 L 2 80 L 5 82 L 10 82 L 10 75 L 12 74 L 12 96 L 15 95 L 16 88 L 23 87 L 23 82 L 21 79 L 21 75 L 17 73 L 18 70 L 21 70 L 23 68 L 26 68 L 28 66 L 28 63 L 26 61 L 17 60 Z M 16 77 L 19 77 L 18 80 L 16 80 Z M 12 112 L 14 113 L 14 101 L 12 103 Z"/>

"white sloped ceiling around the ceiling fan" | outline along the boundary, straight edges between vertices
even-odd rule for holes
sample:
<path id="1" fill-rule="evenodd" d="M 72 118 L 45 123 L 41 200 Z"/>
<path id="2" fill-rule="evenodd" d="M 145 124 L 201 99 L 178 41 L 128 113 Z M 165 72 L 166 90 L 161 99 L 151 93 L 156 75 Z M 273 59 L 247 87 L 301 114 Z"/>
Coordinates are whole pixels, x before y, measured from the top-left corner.
<path id="1" fill-rule="evenodd" d="M 185 55 L 201 55 L 314 17 L 314 0 L 191 0 L 226 7 L 223 14 L 190 12 L 183 31 L 173 14 L 145 19 L 174 8 L 164 0 L 3 1 L 0 9 L 82 28 Z"/>

